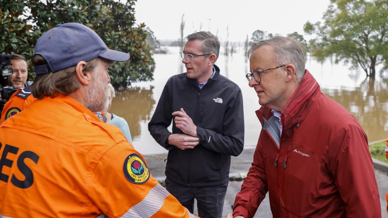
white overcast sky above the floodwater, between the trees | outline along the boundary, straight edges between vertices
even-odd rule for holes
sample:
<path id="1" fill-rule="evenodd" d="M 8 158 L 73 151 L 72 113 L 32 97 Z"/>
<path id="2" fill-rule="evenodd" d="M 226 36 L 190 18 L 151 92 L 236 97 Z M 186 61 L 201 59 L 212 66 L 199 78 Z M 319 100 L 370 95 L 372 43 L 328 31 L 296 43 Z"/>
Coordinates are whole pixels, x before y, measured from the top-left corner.
<path id="1" fill-rule="evenodd" d="M 229 3 L 230 2 L 230 3 Z M 184 35 L 199 31 L 217 33 L 222 41 L 243 42 L 248 35 L 261 29 L 286 36 L 303 32 L 306 21 L 322 19 L 330 0 L 138 0 L 135 4 L 136 23 L 144 22 L 158 40 L 178 39 L 182 14 L 186 20 Z M 210 19 L 210 20 L 209 20 Z"/>

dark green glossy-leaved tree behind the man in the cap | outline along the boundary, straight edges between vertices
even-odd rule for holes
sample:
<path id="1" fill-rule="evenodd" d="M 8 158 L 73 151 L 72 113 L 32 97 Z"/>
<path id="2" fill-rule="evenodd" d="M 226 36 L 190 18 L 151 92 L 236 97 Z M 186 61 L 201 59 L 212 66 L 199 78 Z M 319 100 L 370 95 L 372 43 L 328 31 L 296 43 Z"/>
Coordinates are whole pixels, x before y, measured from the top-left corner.
<path id="1" fill-rule="evenodd" d="M 79 22 L 92 28 L 108 48 L 129 52 L 130 61 L 116 62 L 110 70 L 111 82 L 129 85 L 152 80 L 155 62 L 145 42 L 144 23 L 135 24 L 136 0 L 0 0 L 0 52 L 21 54 L 29 62 L 38 38 L 56 24 Z"/>

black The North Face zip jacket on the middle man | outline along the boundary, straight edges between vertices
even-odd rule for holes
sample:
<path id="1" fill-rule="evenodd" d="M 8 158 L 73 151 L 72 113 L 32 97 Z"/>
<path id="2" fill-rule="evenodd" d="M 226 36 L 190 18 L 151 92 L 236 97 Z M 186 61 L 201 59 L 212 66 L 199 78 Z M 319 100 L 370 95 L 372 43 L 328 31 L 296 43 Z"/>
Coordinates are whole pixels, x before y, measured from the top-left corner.
<path id="1" fill-rule="evenodd" d="M 213 186 L 227 183 L 230 156 L 244 147 L 244 112 L 240 88 L 216 73 L 202 90 L 186 73 L 168 79 L 158 106 L 148 124 L 152 137 L 168 151 L 166 176 L 188 186 Z M 199 144 L 181 150 L 168 144 L 167 130 L 174 111 L 183 108 L 197 126 Z M 173 122 L 172 133 L 184 134 Z"/>

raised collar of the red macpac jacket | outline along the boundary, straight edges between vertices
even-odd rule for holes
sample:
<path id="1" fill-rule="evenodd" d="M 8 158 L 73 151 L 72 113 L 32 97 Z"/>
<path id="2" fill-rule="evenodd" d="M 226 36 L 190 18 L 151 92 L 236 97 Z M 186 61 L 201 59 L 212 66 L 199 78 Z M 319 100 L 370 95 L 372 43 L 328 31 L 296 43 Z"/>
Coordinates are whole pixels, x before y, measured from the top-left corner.
<path id="1" fill-rule="evenodd" d="M 293 95 L 288 100 L 286 107 L 281 112 L 283 130 L 287 130 L 293 125 L 301 123 L 304 119 L 303 114 L 320 96 L 320 93 L 319 84 L 306 69 L 301 84 L 298 88 L 296 88 Z M 256 111 L 256 116 L 260 120 L 260 123 L 262 123 L 262 126 L 264 126 L 263 121 L 269 120 L 273 114 L 271 109 L 266 106 L 262 106 Z"/>

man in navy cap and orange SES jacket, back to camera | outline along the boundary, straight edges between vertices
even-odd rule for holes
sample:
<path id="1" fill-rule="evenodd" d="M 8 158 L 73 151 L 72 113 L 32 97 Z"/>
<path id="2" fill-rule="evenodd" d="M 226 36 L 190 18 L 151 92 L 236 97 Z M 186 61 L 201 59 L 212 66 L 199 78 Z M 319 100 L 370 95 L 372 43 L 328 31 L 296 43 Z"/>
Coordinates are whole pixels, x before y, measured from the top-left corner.
<path id="1" fill-rule="evenodd" d="M 39 38 L 37 100 L 0 126 L 0 217 L 195 217 L 92 112 L 107 106 L 107 68 L 128 59 L 78 23 Z"/>

